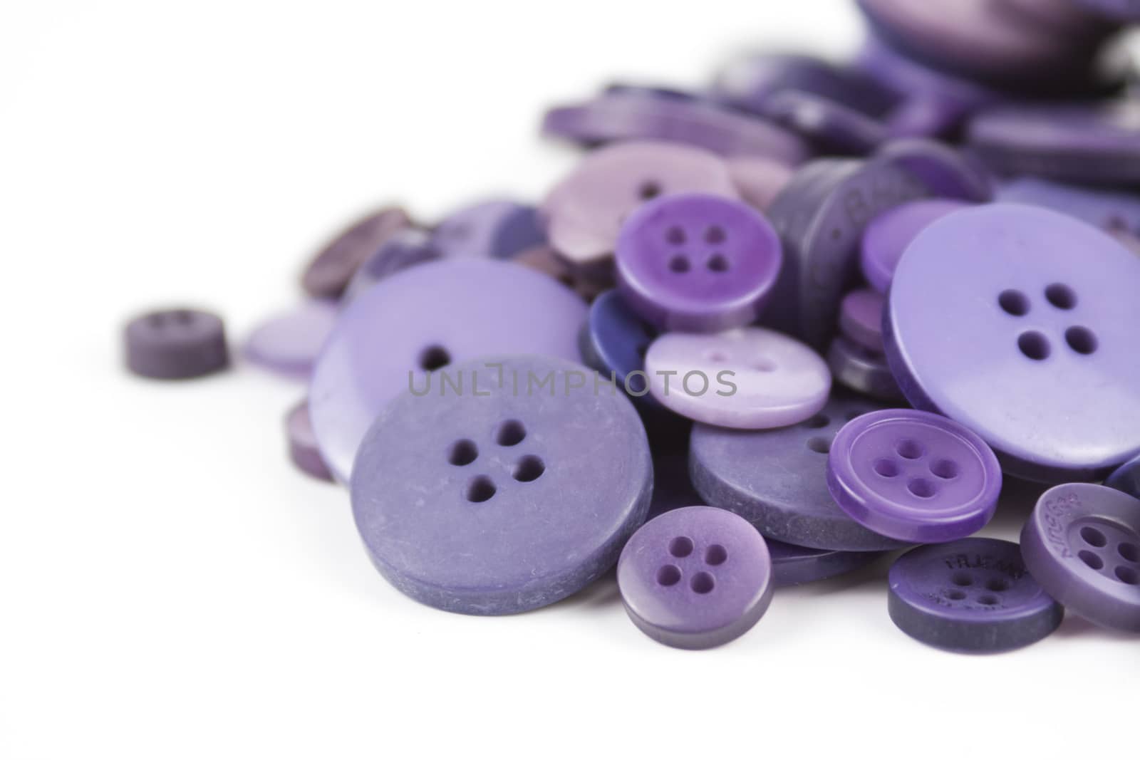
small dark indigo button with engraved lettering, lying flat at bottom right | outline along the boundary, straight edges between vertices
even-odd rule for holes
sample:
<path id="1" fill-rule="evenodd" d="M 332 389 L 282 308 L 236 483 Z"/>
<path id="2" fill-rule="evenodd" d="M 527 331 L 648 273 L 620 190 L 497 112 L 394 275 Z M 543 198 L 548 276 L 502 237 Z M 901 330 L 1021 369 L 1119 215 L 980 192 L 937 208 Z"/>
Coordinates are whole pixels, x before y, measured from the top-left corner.
<path id="1" fill-rule="evenodd" d="M 1017 649 L 1052 634 L 1065 616 L 1009 541 L 968 538 L 922 546 L 899 557 L 888 580 L 890 619 L 939 649 Z"/>

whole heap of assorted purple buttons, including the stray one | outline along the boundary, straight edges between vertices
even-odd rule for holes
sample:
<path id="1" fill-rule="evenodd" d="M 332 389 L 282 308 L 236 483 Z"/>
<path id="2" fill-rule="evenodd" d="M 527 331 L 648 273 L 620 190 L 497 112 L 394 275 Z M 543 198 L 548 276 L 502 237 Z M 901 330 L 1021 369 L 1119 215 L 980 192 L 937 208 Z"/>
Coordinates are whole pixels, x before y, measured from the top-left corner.
<path id="1" fill-rule="evenodd" d="M 586 152 L 539 203 L 370 214 L 249 336 L 384 579 L 502 615 L 616 567 L 638 629 L 707 648 L 902 551 L 888 612 L 931 646 L 1140 632 L 1140 7 L 858 6 L 844 64 L 551 109 Z M 125 341 L 147 377 L 229 363 L 195 310 Z M 1020 545 L 975 537 L 1003 477 L 1048 489 Z"/>

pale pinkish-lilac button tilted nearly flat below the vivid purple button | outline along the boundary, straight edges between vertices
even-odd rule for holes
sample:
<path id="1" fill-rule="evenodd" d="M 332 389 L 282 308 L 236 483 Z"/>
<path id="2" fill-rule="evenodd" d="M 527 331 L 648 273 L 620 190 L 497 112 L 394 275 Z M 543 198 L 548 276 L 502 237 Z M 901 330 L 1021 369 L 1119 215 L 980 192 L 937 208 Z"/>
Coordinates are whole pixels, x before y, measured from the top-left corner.
<path id="1" fill-rule="evenodd" d="M 742 430 L 795 425 L 823 408 L 826 363 L 774 330 L 742 327 L 716 335 L 667 333 L 650 345 L 653 397 L 697 422 Z"/>

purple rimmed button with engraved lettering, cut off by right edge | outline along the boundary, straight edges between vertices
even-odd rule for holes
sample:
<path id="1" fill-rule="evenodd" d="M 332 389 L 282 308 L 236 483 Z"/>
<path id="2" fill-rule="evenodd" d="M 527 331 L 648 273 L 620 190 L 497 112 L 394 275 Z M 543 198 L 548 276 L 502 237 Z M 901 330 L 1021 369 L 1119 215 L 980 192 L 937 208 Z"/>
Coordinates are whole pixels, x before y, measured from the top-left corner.
<path id="1" fill-rule="evenodd" d="M 1021 554 L 1069 611 L 1140 632 L 1140 499 L 1091 483 L 1050 489 L 1021 530 Z"/>

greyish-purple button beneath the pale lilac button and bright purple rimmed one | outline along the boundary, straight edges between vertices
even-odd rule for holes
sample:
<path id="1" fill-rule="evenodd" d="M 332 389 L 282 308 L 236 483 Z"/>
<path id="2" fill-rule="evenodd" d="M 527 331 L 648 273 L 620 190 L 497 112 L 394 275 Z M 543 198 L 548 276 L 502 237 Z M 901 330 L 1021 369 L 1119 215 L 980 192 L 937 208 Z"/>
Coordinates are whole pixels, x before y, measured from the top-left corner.
<path id="1" fill-rule="evenodd" d="M 848 420 L 877 409 L 845 393 L 795 426 L 752 432 L 694 425 L 693 485 L 706 504 L 734 512 L 787 544 L 844 551 L 905 546 L 848 517 L 828 491 L 832 439 Z"/>

